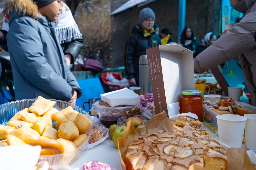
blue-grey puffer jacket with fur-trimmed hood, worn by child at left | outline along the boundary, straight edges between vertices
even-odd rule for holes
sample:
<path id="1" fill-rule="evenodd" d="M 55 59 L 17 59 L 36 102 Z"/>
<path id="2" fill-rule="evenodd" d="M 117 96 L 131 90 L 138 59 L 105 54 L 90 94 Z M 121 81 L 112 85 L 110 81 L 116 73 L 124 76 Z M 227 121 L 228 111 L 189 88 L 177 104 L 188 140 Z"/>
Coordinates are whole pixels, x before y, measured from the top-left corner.
<path id="1" fill-rule="evenodd" d="M 42 96 L 68 101 L 81 91 L 54 34 L 57 21 L 38 14 L 33 1 L 9 1 L 12 15 L 7 45 L 11 59 L 15 99 Z M 78 96 L 81 95 L 78 93 Z"/>

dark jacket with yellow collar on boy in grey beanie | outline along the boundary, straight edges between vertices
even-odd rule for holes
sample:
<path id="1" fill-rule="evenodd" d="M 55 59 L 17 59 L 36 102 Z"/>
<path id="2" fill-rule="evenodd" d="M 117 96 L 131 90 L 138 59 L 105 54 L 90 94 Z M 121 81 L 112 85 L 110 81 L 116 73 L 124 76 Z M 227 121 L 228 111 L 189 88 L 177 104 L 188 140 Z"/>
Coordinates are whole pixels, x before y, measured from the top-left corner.
<path id="1" fill-rule="evenodd" d="M 138 84 L 139 58 L 146 55 L 146 48 L 161 44 L 154 29 L 147 32 L 141 25 L 135 24 L 129 35 L 124 52 L 124 67 L 127 79 L 135 78 Z"/>

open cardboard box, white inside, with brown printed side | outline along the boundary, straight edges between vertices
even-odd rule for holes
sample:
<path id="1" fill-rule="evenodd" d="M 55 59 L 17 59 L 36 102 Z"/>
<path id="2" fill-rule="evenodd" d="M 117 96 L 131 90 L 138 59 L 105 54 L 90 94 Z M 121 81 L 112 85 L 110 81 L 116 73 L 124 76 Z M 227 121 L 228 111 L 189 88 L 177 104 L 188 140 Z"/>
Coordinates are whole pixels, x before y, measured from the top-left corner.
<path id="1" fill-rule="evenodd" d="M 193 52 L 176 44 L 146 49 L 156 113 L 180 101 L 183 90 L 194 90 Z"/>

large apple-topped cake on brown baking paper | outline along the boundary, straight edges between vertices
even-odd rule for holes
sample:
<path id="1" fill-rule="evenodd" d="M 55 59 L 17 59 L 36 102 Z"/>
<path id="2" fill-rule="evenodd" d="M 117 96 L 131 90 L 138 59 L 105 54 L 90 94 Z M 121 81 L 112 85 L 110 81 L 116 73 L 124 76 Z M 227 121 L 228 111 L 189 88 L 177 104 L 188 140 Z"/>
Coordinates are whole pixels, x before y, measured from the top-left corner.
<path id="1" fill-rule="evenodd" d="M 188 169 L 197 164 L 209 170 L 227 169 L 227 150 L 218 140 L 195 131 L 158 131 L 138 137 L 125 153 L 127 170 Z"/>

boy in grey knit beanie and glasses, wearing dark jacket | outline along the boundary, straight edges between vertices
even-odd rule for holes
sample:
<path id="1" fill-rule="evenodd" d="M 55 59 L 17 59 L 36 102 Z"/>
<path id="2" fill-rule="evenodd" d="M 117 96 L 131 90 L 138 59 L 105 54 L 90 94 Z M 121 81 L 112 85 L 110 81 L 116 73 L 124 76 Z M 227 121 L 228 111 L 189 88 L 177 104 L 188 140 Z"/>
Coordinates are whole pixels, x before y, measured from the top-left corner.
<path id="1" fill-rule="evenodd" d="M 143 8 L 129 35 L 124 52 L 124 67 L 130 86 L 139 86 L 139 58 L 146 55 L 146 48 L 161 44 L 160 37 L 153 28 L 155 13 L 151 8 Z"/>

